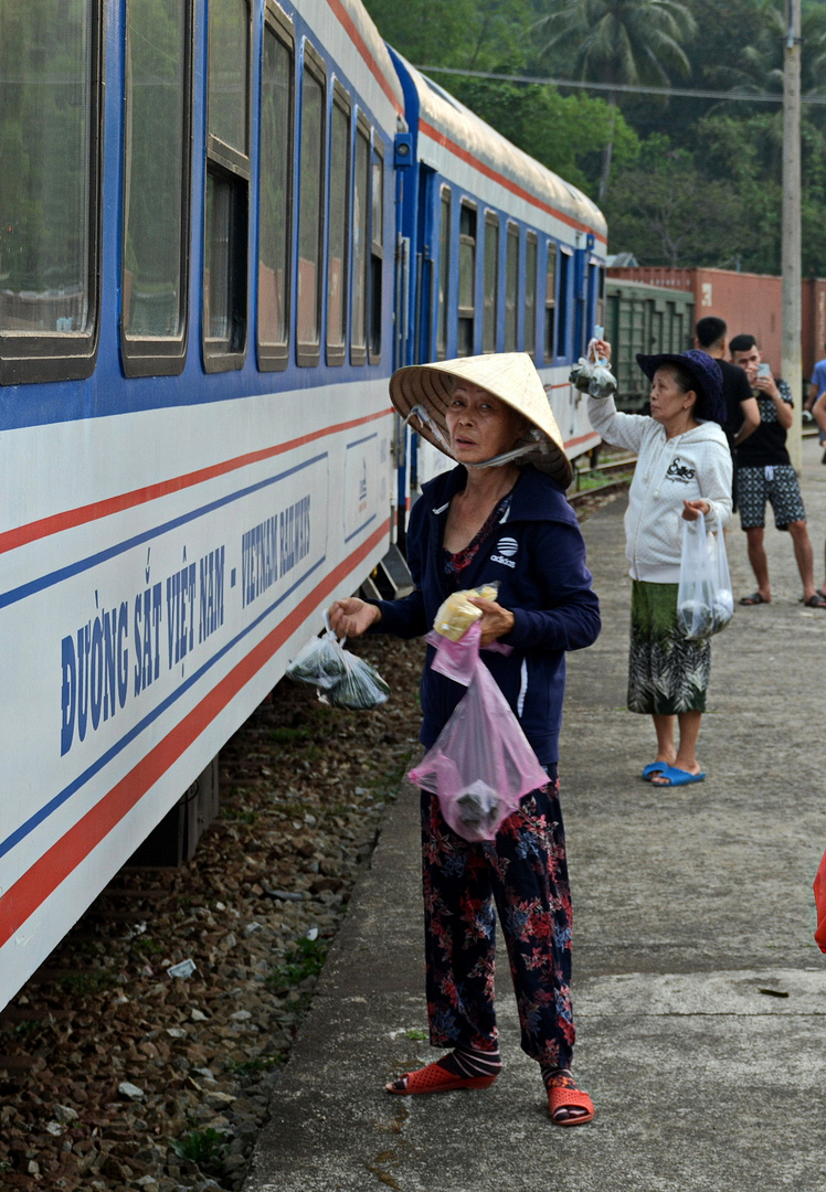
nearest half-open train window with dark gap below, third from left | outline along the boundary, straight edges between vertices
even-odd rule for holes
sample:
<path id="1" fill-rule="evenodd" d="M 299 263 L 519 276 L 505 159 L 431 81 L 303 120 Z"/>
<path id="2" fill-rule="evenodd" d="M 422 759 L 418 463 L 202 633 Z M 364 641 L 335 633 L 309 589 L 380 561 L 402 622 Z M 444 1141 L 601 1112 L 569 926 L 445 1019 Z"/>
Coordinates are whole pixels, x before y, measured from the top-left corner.
<path id="1" fill-rule="evenodd" d="M 204 194 L 204 367 L 241 368 L 247 350 L 249 5 L 211 0 Z"/>

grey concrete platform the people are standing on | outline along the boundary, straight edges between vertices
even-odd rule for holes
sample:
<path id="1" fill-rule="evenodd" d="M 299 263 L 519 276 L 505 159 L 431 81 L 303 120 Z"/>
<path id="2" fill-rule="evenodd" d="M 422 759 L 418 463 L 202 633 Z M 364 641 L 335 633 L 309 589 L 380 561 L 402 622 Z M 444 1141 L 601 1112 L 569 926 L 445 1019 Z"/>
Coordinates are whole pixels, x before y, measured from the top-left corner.
<path id="1" fill-rule="evenodd" d="M 826 467 L 803 445 L 824 579 Z M 704 783 L 640 781 L 650 720 L 625 709 L 631 581 L 623 504 L 584 526 L 603 633 L 569 660 L 563 808 L 575 900 L 576 1073 L 597 1106 L 551 1125 L 518 1050 L 503 966 L 505 1068 L 482 1093 L 393 1098 L 436 1057 L 426 1031 L 416 793 L 389 814 L 275 1087 L 244 1192 L 777 1192 L 826 1188 L 826 957 L 812 881 L 826 849 L 826 611 L 799 603 L 766 530 L 774 600 L 714 640 Z M 753 577 L 737 519 L 735 596 Z"/>

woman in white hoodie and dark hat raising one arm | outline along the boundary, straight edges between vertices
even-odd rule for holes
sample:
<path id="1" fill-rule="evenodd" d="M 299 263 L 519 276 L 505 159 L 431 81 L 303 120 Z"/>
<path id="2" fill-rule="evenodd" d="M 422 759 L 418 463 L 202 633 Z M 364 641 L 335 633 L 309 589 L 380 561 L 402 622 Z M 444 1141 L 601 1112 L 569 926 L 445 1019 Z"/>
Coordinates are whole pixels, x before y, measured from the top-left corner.
<path id="1" fill-rule="evenodd" d="M 610 359 L 610 344 L 597 341 Z M 626 513 L 631 564 L 628 708 L 647 713 L 657 758 L 642 777 L 682 787 L 706 777 L 696 757 L 710 669 L 708 640 L 688 641 L 677 627 L 681 519 L 706 517 L 722 533 L 732 511 L 732 457 L 716 360 L 690 350 L 638 355 L 651 380 L 651 416 L 617 412 L 613 398 L 589 398 L 591 426 L 609 443 L 636 452 Z M 679 734 L 676 737 L 676 722 Z"/>

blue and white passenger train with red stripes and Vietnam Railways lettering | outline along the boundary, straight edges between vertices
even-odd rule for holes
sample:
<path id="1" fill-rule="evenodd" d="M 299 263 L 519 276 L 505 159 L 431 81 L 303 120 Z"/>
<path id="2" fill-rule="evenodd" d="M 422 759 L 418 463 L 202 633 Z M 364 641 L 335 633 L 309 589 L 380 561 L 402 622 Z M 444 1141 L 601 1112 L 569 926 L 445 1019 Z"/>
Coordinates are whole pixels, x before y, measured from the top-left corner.
<path id="1" fill-rule="evenodd" d="M 605 236 L 359 0 L 0 6 L 0 1007 L 403 540 L 395 367 L 595 443 Z"/>

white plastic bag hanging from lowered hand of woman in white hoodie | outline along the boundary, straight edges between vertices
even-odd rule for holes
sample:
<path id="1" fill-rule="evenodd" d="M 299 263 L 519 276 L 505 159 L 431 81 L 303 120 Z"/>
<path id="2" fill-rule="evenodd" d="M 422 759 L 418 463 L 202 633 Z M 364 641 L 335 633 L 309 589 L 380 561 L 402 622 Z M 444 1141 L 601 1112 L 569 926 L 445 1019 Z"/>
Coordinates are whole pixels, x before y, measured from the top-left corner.
<path id="1" fill-rule="evenodd" d="M 710 638 L 734 615 L 723 535 L 709 534 L 702 514 L 683 522 L 677 589 L 677 623 L 689 641 Z"/>

